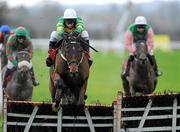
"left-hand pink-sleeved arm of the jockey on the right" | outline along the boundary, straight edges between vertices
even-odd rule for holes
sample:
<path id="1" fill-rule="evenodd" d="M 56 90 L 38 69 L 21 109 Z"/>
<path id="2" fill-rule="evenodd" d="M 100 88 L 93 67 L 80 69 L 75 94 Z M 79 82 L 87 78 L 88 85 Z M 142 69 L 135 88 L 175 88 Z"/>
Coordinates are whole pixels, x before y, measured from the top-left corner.
<path id="1" fill-rule="evenodd" d="M 133 44 L 133 34 L 131 31 L 126 31 L 125 33 L 125 48 L 130 52 L 134 53 L 136 48 L 132 46 Z"/>

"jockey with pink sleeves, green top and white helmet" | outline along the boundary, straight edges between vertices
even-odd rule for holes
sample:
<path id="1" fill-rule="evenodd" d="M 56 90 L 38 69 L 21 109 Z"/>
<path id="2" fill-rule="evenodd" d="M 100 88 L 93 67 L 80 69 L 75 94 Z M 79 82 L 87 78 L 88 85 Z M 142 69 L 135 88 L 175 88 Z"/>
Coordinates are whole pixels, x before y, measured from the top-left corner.
<path id="1" fill-rule="evenodd" d="M 135 23 L 131 24 L 125 33 L 125 48 L 129 51 L 129 58 L 127 61 L 127 66 L 122 73 L 123 76 L 129 75 L 130 64 L 134 60 L 134 53 L 136 51 L 134 44 L 140 39 L 147 42 L 148 58 L 152 66 L 154 66 L 156 76 L 161 75 L 160 71 L 157 68 L 155 56 L 153 55 L 153 36 L 153 29 L 150 25 L 147 24 L 146 18 L 144 16 L 136 17 Z"/>

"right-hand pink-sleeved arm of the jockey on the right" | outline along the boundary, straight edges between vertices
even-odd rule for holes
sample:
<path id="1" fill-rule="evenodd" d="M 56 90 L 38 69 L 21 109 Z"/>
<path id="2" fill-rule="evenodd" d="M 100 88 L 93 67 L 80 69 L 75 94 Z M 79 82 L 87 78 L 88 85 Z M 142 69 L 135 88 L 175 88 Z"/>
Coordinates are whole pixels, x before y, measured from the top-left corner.
<path id="1" fill-rule="evenodd" d="M 148 52 L 151 53 L 153 47 L 154 47 L 154 32 L 152 28 L 149 28 L 147 33 L 147 46 L 148 46 Z"/>

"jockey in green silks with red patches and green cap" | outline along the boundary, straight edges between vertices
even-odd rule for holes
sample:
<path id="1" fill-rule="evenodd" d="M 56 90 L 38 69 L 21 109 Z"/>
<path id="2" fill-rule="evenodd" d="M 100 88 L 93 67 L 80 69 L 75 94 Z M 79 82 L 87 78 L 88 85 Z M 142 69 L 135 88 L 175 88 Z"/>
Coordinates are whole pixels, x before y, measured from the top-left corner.
<path id="1" fill-rule="evenodd" d="M 7 77 L 16 69 L 17 61 L 16 61 L 16 54 L 17 51 L 27 50 L 29 52 L 29 56 L 32 59 L 33 47 L 31 38 L 27 35 L 27 30 L 20 26 L 15 30 L 15 34 L 11 35 L 7 41 L 6 46 L 6 55 L 8 58 L 7 70 L 5 73 L 3 87 L 6 87 Z M 33 85 L 39 85 L 39 82 L 35 80 L 34 70 L 31 64 L 31 78 L 33 81 Z"/>

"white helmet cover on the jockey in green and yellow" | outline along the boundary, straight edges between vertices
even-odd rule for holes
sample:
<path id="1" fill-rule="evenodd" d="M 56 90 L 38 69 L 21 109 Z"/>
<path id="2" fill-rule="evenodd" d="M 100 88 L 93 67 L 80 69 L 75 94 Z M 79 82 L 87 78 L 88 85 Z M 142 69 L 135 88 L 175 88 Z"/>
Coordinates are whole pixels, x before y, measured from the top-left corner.
<path id="1" fill-rule="evenodd" d="M 64 11 L 64 19 L 76 19 L 77 18 L 77 14 L 76 11 L 74 9 L 66 9 Z"/>

